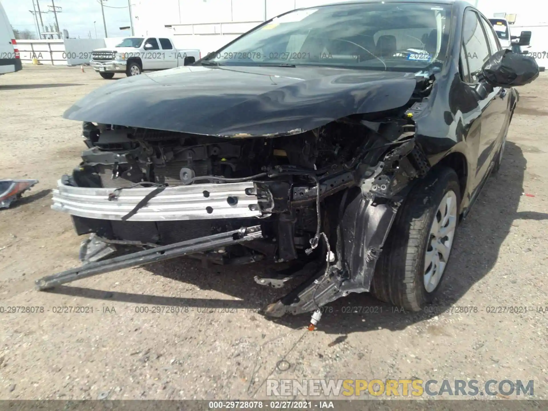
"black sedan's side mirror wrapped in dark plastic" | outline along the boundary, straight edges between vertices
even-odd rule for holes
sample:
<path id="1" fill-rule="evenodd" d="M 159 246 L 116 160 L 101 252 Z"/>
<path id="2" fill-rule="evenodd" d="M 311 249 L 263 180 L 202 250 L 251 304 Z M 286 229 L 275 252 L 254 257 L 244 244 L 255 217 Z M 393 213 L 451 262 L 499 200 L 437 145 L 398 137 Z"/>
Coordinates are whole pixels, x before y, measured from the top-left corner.
<path id="1" fill-rule="evenodd" d="M 493 87 L 516 87 L 539 76 L 539 66 L 530 56 L 503 49 L 490 56 L 481 69 L 481 79 Z"/>

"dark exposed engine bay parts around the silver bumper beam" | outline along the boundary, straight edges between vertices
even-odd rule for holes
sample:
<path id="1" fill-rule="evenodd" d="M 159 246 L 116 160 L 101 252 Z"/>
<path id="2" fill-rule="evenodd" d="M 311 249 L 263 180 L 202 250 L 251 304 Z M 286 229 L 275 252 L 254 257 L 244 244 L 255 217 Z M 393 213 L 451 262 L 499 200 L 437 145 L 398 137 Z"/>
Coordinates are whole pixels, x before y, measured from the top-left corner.
<path id="1" fill-rule="evenodd" d="M 259 203 L 261 212 L 272 214 L 261 222 L 269 238 L 275 240 L 276 247 L 270 244 L 267 257 L 276 261 L 294 260 L 317 235 L 316 185 L 319 184 L 323 200 L 373 175 L 383 153 L 411 146 L 409 138 L 413 133 L 405 130 L 412 131 L 413 125 L 399 123 L 345 119 L 301 134 L 231 140 L 84 123 L 83 136 L 89 148 L 83 152 L 84 161 L 67 183 L 118 189 L 253 179 L 264 193 L 264 200 Z M 399 164 L 391 166 L 395 171 Z M 379 195 L 392 196 L 403 181 L 396 181 L 395 186 L 385 173 L 378 177 L 375 188 Z M 145 224 L 105 221 L 111 230 L 104 227 L 104 233 L 112 237 L 109 239 L 165 245 L 235 229 L 243 222 L 214 218 Z M 265 250 L 261 248 L 262 252 Z M 222 254 L 224 259 L 230 259 L 233 253 L 253 258 L 255 251 L 229 250 Z"/>

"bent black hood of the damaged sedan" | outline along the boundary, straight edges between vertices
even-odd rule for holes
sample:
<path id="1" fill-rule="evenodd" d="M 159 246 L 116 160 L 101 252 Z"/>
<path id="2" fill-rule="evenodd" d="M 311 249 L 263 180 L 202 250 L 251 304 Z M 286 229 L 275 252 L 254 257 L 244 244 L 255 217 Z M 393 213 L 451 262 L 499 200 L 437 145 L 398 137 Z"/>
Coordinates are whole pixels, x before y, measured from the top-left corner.
<path id="1" fill-rule="evenodd" d="M 356 113 L 405 105 L 413 73 L 326 67 L 204 67 L 119 79 L 63 117 L 226 137 L 301 133 Z"/>

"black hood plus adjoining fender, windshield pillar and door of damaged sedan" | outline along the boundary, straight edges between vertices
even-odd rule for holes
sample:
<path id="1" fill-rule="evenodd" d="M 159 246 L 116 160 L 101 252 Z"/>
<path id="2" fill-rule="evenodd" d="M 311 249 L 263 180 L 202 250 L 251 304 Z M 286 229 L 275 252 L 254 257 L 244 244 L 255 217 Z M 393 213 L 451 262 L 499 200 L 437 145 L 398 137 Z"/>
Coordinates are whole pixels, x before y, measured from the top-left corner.
<path id="1" fill-rule="evenodd" d="M 487 178 L 513 108 L 511 89 L 479 99 L 459 74 L 463 16 L 469 3 L 452 4 L 448 55 L 433 75 L 430 95 L 414 112 L 416 141 L 430 165 L 451 153 L 466 162 L 461 211 Z M 481 14 L 481 13 L 479 13 Z M 221 49 L 222 50 L 222 49 Z M 227 138 L 298 134 L 353 114 L 406 105 L 414 73 L 330 67 L 196 66 L 118 80 L 85 96 L 67 119 Z"/>

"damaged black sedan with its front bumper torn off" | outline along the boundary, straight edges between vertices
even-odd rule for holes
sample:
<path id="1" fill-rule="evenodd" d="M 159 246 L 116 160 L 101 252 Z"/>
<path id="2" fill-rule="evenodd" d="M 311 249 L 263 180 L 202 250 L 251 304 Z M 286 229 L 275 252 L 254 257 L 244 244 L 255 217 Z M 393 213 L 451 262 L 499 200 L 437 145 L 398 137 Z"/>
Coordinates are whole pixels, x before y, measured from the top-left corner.
<path id="1" fill-rule="evenodd" d="M 500 166 L 512 87 L 537 76 L 468 3 L 383 1 L 295 10 L 99 88 L 65 113 L 87 149 L 52 206 L 91 234 L 84 264 L 38 288 L 187 255 L 289 262 L 249 279 L 301 279 L 269 316 L 361 292 L 420 310 Z"/>

